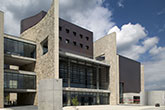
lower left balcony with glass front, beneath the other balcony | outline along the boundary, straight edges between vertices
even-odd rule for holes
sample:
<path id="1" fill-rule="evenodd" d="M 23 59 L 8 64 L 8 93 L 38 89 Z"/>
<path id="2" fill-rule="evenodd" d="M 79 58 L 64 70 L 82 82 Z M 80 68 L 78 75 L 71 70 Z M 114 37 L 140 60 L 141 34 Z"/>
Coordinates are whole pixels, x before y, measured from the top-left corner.
<path id="1" fill-rule="evenodd" d="M 4 89 L 6 92 L 35 92 L 36 75 L 26 71 L 4 71 Z"/>

